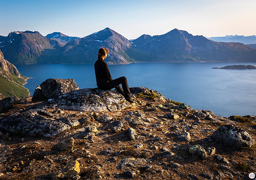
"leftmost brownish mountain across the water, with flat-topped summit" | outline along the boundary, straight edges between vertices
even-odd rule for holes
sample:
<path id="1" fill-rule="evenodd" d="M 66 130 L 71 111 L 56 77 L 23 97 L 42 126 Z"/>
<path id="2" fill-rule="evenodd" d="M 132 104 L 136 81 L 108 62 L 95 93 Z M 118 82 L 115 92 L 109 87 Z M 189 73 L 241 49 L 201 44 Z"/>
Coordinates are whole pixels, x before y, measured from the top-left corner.
<path id="1" fill-rule="evenodd" d="M 0 48 L 9 62 L 13 64 L 48 63 L 52 50 L 60 45 L 38 31 L 16 31 L 1 37 Z"/>

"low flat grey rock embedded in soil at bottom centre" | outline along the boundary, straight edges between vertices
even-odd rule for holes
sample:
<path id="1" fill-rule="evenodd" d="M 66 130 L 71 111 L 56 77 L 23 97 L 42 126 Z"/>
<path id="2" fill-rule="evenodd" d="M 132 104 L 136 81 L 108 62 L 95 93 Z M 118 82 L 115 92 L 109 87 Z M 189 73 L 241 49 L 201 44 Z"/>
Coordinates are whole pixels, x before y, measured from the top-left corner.
<path id="1" fill-rule="evenodd" d="M 138 168 L 144 166 L 146 160 L 144 158 L 124 158 L 117 164 L 117 169 L 129 170 L 131 168 Z"/>

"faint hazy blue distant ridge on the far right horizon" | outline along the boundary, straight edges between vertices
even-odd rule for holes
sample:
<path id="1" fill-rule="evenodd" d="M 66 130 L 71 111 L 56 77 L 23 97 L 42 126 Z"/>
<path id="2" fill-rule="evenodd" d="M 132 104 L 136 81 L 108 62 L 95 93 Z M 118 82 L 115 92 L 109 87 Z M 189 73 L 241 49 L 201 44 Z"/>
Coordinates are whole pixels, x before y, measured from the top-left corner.
<path id="1" fill-rule="evenodd" d="M 234 43 L 243 43 L 243 44 L 255 44 L 256 36 L 224 36 L 224 37 L 208 37 L 209 40 L 217 41 L 217 42 L 234 42 Z"/>

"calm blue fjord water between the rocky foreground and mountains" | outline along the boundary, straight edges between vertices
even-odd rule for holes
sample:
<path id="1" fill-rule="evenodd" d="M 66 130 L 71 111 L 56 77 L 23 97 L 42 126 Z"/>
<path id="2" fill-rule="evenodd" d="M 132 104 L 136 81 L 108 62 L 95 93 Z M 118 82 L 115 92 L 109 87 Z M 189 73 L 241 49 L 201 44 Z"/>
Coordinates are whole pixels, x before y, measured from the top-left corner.
<path id="1" fill-rule="evenodd" d="M 193 109 L 215 114 L 256 116 L 256 70 L 212 69 L 227 65 L 256 63 L 133 63 L 109 65 L 113 79 L 125 76 L 130 87 L 143 86 L 159 91 Z M 95 88 L 94 65 L 36 64 L 16 65 L 29 79 L 26 88 L 35 88 L 48 78 L 73 78 L 80 89 Z"/>

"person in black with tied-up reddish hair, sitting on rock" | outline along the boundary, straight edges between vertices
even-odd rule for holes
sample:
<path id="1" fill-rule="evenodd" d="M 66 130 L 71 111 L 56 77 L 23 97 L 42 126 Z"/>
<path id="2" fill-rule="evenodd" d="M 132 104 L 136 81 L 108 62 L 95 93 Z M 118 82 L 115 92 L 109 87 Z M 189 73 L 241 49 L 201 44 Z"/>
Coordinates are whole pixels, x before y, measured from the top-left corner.
<path id="1" fill-rule="evenodd" d="M 98 60 L 94 64 L 98 88 L 103 90 L 115 88 L 128 102 L 134 103 L 134 100 L 131 98 L 131 92 L 126 77 L 122 76 L 115 80 L 112 79 L 108 69 L 108 64 L 105 62 L 108 52 L 108 49 L 99 49 Z M 122 84 L 122 88 L 119 84 Z"/>

